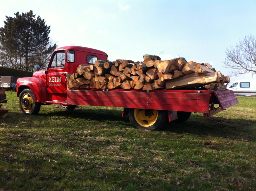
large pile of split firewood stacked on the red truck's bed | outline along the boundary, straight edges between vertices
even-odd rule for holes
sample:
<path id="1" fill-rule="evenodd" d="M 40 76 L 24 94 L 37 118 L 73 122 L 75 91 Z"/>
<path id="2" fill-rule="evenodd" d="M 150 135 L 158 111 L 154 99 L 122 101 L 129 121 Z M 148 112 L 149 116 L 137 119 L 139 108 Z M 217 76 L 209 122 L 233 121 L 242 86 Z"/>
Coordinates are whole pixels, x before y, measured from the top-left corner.
<path id="1" fill-rule="evenodd" d="M 146 54 L 144 62 L 131 60 L 97 60 L 94 65 L 81 64 L 69 76 L 69 88 L 93 89 L 177 89 L 202 87 L 226 88 L 229 77 L 211 68 L 209 63 L 187 62 L 184 58 L 162 61 Z"/>

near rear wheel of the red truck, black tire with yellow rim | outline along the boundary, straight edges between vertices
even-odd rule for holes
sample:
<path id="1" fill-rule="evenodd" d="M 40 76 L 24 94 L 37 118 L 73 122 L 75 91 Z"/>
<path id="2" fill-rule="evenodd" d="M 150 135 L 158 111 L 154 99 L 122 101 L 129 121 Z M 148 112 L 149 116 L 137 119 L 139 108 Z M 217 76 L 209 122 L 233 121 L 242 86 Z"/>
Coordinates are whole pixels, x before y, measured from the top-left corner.
<path id="1" fill-rule="evenodd" d="M 129 109 L 129 119 L 133 127 L 147 130 L 161 130 L 167 122 L 164 110 Z"/>

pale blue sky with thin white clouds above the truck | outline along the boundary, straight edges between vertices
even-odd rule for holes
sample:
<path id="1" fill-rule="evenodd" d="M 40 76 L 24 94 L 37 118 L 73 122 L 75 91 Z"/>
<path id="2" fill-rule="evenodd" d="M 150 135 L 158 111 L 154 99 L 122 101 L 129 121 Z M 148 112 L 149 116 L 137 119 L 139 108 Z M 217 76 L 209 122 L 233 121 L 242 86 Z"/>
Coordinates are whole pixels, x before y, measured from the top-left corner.
<path id="1" fill-rule="evenodd" d="M 246 35 L 256 36 L 256 1 L 47 1 L 0 0 L 0 27 L 5 16 L 33 10 L 50 25 L 58 47 L 98 49 L 109 60 L 143 61 L 144 54 L 161 60 L 184 57 L 222 67 L 226 49 Z M 251 79 L 251 74 L 230 77 Z M 253 76 L 256 79 L 256 75 Z"/>

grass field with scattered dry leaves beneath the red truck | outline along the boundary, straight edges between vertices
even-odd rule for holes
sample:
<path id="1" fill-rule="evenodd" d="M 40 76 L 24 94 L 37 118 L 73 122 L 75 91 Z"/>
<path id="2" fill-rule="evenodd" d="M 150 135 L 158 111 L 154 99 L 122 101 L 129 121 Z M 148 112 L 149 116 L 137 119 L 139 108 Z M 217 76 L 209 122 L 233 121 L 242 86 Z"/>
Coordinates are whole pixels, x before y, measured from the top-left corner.
<path id="1" fill-rule="evenodd" d="M 15 92 L 6 94 L 0 190 L 256 189 L 256 97 L 147 131 L 122 108 L 46 105 L 23 115 Z"/>

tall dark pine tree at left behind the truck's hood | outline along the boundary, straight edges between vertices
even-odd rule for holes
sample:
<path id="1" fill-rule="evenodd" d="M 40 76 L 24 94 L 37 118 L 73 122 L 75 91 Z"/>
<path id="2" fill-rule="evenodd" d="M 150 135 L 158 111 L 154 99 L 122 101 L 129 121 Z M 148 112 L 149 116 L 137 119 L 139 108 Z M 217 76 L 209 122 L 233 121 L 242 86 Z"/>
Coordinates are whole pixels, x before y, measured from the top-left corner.
<path id="1" fill-rule="evenodd" d="M 0 28 L 0 48 L 9 60 L 10 66 L 33 72 L 35 64 L 45 68 L 56 43 L 49 37 L 50 26 L 33 11 L 6 16 L 4 27 Z"/>

